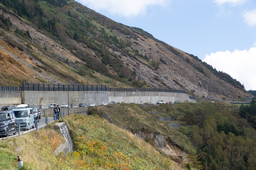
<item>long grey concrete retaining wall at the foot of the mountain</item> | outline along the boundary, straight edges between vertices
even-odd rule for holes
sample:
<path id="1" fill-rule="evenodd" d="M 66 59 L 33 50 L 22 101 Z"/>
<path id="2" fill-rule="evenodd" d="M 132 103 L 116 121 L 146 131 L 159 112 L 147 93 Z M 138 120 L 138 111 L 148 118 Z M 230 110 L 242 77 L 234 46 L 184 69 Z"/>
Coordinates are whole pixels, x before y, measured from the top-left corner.
<path id="1" fill-rule="evenodd" d="M 2 94 L 2 95 L 1 95 Z M 44 92 L 44 91 L 21 91 L 21 92 L 2 92 L 0 93 L 0 106 L 13 104 L 29 104 L 42 105 L 48 107 L 51 103 L 72 104 L 78 106 L 79 103 L 85 103 L 88 106 L 91 103 L 100 105 L 102 102 L 109 103 L 111 101 L 131 103 L 137 101 L 148 102 L 156 104 L 157 100 L 181 102 L 196 101 L 189 99 L 188 94 L 185 93 L 171 93 L 171 92 Z"/>

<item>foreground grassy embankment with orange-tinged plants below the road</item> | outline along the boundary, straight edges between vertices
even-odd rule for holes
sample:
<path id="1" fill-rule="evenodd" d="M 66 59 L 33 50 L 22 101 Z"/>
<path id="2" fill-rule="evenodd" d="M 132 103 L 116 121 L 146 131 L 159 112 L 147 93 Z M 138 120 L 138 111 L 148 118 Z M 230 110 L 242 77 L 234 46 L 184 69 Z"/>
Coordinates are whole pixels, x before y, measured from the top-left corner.
<path id="1" fill-rule="evenodd" d="M 53 156 L 64 141 L 53 123 L 0 141 L 0 169 L 17 169 L 21 155 L 23 169 L 182 169 L 150 144 L 94 116 L 72 115 L 64 119 L 74 142 L 68 156 Z"/>

